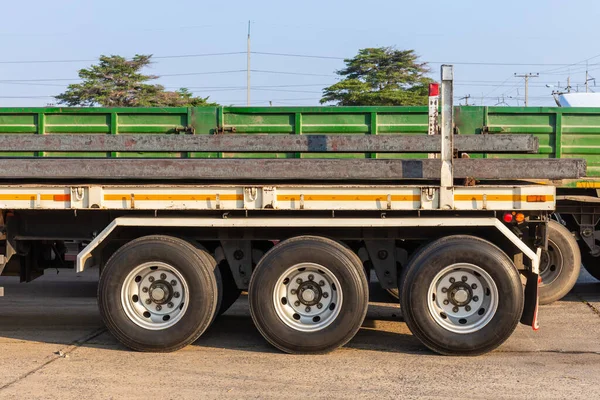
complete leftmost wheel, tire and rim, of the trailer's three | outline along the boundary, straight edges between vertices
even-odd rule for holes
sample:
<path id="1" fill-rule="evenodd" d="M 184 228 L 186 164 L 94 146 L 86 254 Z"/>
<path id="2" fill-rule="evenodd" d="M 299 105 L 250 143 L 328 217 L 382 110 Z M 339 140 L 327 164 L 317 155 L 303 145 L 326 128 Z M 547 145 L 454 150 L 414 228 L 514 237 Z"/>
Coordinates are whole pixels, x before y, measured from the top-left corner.
<path id="1" fill-rule="evenodd" d="M 98 287 L 110 332 L 138 351 L 175 351 L 200 337 L 213 320 L 219 292 L 216 263 L 206 256 L 182 239 L 159 235 L 121 247 Z"/>

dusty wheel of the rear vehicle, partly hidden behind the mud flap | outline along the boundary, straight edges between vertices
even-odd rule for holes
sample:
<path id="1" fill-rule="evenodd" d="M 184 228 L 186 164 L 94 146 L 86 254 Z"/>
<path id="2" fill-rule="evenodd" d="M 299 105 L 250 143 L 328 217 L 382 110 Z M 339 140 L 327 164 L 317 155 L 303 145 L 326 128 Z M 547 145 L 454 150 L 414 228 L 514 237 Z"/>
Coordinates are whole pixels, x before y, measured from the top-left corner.
<path id="1" fill-rule="evenodd" d="M 562 299 L 575 286 L 581 252 L 571 232 L 556 221 L 548 222 L 548 250 L 540 258 L 540 304 Z"/>

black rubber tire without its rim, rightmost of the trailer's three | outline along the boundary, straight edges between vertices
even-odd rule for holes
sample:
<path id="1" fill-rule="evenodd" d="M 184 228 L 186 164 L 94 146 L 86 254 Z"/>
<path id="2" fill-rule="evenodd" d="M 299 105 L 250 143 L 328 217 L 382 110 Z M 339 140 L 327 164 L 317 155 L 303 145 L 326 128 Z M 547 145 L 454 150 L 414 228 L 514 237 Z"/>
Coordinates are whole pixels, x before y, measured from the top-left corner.
<path id="1" fill-rule="evenodd" d="M 470 263 L 484 269 L 498 288 L 498 309 L 473 333 L 454 333 L 438 324 L 428 308 L 434 277 L 448 265 Z M 523 312 L 519 271 L 498 247 L 473 236 L 456 235 L 423 247 L 407 265 L 400 304 L 409 329 L 425 346 L 443 355 L 475 356 L 501 345 L 515 330 Z"/>

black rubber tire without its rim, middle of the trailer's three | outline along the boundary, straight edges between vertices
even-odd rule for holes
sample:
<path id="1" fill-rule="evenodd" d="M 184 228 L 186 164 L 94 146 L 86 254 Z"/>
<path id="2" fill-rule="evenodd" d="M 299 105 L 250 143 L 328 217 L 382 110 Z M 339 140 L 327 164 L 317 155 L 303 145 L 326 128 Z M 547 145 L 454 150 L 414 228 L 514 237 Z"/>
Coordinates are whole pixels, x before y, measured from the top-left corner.
<path id="1" fill-rule="evenodd" d="M 316 332 L 289 327 L 273 305 L 273 291 L 281 274 L 302 262 L 327 266 L 344 294 L 338 317 Z M 352 250 L 331 239 L 299 236 L 265 254 L 252 274 L 248 296 L 254 324 L 273 346 L 287 353 L 326 353 L 346 344 L 360 329 L 369 305 L 369 286 L 362 262 Z"/>

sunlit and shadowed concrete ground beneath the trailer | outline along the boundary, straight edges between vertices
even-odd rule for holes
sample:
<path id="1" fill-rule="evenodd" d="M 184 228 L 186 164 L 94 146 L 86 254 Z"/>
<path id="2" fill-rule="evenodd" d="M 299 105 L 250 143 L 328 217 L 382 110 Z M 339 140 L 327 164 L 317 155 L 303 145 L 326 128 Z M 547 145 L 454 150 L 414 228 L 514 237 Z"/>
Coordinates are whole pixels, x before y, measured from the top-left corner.
<path id="1" fill-rule="evenodd" d="M 1 399 L 600 398 L 600 282 L 585 272 L 542 307 L 540 331 L 519 326 L 474 358 L 431 353 L 384 302 L 344 348 L 282 354 L 254 328 L 245 297 L 193 345 L 136 353 L 104 329 L 95 273 L 0 278 Z"/>

